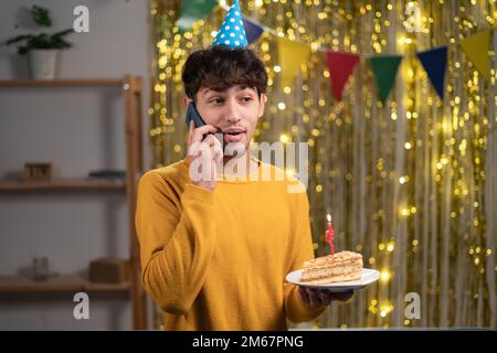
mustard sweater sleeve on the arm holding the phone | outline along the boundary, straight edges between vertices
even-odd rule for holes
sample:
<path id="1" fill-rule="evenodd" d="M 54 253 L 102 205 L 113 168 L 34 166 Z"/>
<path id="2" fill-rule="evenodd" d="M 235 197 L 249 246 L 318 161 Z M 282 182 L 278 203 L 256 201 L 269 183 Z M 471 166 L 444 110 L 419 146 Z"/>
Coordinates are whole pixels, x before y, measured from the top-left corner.
<path id="1" fill-rule="evenodd" d="M 202 288 L 215 243 L 213 202 L 213 192 L 193 184 L 178 196 L 157 172 L 140 179 L 135 222 L 141 279 L 172 314 L 188 312 Z"/>

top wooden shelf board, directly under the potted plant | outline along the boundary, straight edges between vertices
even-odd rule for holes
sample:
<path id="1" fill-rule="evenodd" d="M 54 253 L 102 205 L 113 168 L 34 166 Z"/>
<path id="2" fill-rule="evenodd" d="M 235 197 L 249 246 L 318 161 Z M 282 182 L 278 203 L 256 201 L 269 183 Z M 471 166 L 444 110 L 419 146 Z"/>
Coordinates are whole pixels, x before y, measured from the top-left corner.
<path id="1" fill-rule="evenodd" d="M 118 78 L 0 79 L 0 87 L 120 86 L 125 83 L 126 81 Z"/>

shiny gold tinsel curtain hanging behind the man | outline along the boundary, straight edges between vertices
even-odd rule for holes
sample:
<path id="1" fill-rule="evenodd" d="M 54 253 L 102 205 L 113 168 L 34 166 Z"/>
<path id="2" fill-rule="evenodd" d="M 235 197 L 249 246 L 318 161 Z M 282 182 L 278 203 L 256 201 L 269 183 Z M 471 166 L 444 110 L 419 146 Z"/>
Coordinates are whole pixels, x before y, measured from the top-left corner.
<path id="1" fill-rule="evenodd" d="M 231 2 L 229 2 L 231 4 Z M 315 327 L 497 328 L 496 35 L 491 77 L 484 82 L 457 45 L 496 25 L 491 0 L 241 1 L 245 15 L 307 43 L 313 50 L 358 53 L 361 61 L 343 99 L 331 98 L 322 53 L 303 65 L 295 86 L 281 86 L 275 38 L 252 47 L 268 68 L 265 117 L 255 141 L 309 145 L 308 196 L 316 254 L 326 213 L 334 214 L 336 248 L 360 252 L 381 280 L 348 303 L 332 303 Z M 406 8 L 420 12 L 406 30 Z M 224 18 L 214 11 L 179 34 L 179 1 L 151 1 L 154 43 L 152 165 L 184 156 L 187 128 L 181 67 L 209 46 Z M 448 45 L 445 97 L 438 98 L 415 53 Z M 367 57 L 399 54 L 390 99 L 383 105 Z M 408 319 L 405 295 L 421 298 L 421 318 Z"/>

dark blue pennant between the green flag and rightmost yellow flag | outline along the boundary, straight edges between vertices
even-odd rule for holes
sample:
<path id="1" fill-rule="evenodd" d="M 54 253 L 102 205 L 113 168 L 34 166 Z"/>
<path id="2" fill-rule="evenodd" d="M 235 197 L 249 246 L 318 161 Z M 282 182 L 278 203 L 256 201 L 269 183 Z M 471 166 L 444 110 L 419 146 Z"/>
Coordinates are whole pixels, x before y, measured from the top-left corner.
<path id="1" fill-rule="evenodd" d="M 447 66 L 447 47 L 442 46 L 417 53 L 424 71 L 441 98 L 444 98 L 445 67 Z"/>

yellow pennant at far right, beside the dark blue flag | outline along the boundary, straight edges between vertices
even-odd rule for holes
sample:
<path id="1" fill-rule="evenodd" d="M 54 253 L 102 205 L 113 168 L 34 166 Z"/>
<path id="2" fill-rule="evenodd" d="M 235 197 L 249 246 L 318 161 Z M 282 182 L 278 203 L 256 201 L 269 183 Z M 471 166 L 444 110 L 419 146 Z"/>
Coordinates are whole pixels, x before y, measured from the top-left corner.
<path id="1" fill-rule="evenodd" d="M 490 31 L 483 31 L 461 40 L 459 44 L 482 76 L 485 79 L 490 78 L 490 57 L 488 56 Z"/>

